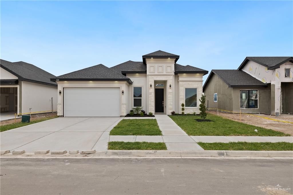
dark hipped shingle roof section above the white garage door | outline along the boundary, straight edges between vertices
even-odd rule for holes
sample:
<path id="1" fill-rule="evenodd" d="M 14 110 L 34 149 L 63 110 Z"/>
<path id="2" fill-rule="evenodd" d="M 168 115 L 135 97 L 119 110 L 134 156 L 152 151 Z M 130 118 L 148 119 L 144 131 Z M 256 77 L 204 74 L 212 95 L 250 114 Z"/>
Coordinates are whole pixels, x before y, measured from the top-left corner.
<path id="1" fill-rule="evenodd" d="M 132 83 L 130 78 L 123 76 L 121 73 L 103 64 L 57 76 L 51 80 L 56 81 L 56 79 L 59 79 L 59 81 L 127 81 L 130 84 Z"/>

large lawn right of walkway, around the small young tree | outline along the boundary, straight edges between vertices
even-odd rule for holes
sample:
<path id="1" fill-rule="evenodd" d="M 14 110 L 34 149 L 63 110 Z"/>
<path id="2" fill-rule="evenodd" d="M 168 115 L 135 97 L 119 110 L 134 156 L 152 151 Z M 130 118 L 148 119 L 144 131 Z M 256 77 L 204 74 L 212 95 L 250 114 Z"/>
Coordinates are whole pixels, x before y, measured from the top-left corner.
<path id="1" fill-rule="evenodd" d="M 201 119 L 199 115 L 170 117 L 190 136 L 290 136 L 290 134 L 232 121 L 214 114 L 207 114 L 206 118 L 214 122 L 197 122 L 195 119 Z M 255 132 L 255 129 L 258 132 Z"/>

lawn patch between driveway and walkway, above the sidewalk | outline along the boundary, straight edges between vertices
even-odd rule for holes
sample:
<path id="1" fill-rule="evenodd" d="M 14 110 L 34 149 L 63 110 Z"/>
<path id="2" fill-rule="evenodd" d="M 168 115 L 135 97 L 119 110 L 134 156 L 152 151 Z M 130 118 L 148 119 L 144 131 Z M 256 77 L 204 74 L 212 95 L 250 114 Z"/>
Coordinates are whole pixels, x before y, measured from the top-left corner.
<path id="1" fill-rule="evenodd" d="M 156 119 L 123 119 L 110 135 L 162 135 Z"/>

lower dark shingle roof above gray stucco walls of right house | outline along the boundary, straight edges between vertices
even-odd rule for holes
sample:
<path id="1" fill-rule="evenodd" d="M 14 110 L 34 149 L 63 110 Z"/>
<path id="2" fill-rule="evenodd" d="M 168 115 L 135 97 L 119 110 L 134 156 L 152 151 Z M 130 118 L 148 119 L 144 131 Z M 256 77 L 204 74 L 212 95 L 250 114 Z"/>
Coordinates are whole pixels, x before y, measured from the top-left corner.
<path id="1" fill-rule="evenodd" d="M 227 83 L 227 85 L 229 85 L 229 87 L 267 86 L 266 83 L 259 81 L 258 79 L 241 70 L 212 70 L 207 78 L 207 81 L 203 85 L 203 90 L 214 74 L 219 76 L 225 83 Z"/>

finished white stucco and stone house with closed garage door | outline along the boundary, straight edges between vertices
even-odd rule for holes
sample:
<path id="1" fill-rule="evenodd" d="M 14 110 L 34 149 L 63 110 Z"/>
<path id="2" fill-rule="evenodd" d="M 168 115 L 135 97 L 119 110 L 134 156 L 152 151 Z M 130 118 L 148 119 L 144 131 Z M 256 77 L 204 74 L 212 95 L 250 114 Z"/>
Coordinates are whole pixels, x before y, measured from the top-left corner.
<path id="1" fill-rule="evenodd" d="M 208 71 L 177 64 L 179 55 L 161 50 L 111 68 L 99 64 L 52 77 L 58 84 L 57 114 L 120 117 L 136 106 L 147 113 L 199 113 L 202 76 Z"/>

